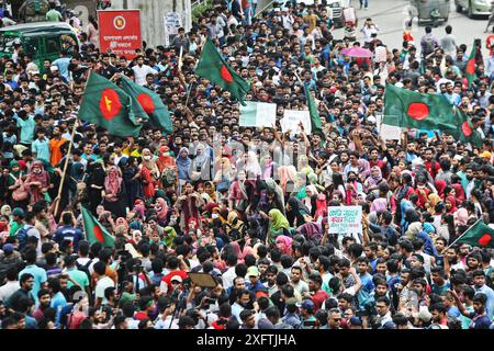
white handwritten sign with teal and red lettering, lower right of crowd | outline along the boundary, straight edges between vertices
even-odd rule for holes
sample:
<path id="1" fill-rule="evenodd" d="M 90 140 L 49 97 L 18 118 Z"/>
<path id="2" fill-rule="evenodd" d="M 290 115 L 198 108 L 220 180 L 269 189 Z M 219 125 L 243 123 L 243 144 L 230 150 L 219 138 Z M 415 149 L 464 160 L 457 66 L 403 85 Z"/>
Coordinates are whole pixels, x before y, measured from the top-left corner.
<path id="1" fill-rule="evenodd" d="M 329 206 L 329 234 L 361 234 L 362 206 Z"/>

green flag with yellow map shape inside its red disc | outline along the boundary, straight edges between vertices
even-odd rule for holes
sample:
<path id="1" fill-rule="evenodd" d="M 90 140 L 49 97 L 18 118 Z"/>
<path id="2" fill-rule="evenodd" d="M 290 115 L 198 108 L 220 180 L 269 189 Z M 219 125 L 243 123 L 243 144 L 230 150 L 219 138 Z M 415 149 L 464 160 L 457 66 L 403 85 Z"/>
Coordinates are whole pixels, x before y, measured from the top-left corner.
<path id="1" fill-rule="evenodd" d="M 79 118 L 121 137 L 137 137 L 143 126 L 135 118 L 131 97 L 94 72 L 91 72 L 86 84 Z"/>

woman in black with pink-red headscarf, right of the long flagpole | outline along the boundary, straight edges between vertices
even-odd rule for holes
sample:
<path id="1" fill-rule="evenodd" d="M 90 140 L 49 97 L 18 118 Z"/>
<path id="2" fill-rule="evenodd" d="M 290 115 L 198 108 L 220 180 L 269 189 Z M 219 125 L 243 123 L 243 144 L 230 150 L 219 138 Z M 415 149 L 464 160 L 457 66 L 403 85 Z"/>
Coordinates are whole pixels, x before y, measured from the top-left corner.
<path id="1" fill-rule="evenodd" d="M 116 166 L 110 167 L 104 179 L 103 206 L 115 217 L 125 217 L 125 184 Z"/>

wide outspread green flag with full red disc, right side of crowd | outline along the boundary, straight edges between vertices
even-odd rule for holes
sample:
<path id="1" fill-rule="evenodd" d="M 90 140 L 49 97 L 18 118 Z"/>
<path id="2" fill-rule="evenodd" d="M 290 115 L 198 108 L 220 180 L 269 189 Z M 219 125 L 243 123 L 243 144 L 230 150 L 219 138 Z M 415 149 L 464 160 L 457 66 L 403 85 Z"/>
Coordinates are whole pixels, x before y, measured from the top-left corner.
<path id="1" fill-rule="evenodd" d="M 453 133 L 458 116 L 442 95 L 423 94 L 386 84 L 382 123 L 405 128 Z"/>

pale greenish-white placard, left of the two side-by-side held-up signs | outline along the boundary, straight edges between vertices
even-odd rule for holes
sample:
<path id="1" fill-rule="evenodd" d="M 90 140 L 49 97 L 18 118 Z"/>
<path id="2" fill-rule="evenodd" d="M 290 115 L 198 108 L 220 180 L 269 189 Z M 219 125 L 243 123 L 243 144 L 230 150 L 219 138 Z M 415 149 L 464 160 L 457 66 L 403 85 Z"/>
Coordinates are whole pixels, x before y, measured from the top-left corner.
<path id="1" fill-rule="evenodd" d="M 240 121 L 243 127 L 272 127 L 277 123 L 277 104 L 246 101 L 240 105 Z"/>

